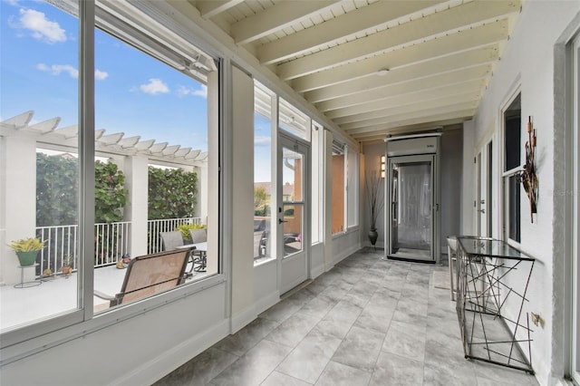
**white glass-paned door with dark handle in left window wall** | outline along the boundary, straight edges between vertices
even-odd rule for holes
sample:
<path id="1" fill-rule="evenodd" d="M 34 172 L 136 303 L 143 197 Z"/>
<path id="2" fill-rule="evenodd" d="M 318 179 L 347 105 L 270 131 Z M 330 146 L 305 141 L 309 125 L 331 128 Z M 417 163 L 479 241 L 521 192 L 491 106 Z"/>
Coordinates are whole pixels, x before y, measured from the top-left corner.
<path id="1" fill-rule="evenodd" d="M 304 142 L 278 135 L 280 294 L 308 278 L 308 153 L 309 147 Z"/>

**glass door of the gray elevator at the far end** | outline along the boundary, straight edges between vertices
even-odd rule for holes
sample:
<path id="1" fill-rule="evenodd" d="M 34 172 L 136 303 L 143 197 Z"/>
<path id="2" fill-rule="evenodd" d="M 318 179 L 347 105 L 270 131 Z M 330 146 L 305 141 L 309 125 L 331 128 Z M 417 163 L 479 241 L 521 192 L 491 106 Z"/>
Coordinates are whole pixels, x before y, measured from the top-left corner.
<path id="1" fill-rule="evenodd" d="M 389 257 L 435 260 L 433 160 L 433 155 L 389 158 Z"/>

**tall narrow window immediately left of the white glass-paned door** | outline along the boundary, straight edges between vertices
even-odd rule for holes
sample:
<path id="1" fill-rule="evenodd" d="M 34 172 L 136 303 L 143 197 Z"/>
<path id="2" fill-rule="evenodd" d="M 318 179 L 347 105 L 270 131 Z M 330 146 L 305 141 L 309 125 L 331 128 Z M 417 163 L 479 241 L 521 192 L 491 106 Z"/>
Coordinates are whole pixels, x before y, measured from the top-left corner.
<path id="1" fill-rule="evenodd" d="M 276 97 L 256 82 L 254 88 L 254 263 L 272 256 L 272 133 Z"/>

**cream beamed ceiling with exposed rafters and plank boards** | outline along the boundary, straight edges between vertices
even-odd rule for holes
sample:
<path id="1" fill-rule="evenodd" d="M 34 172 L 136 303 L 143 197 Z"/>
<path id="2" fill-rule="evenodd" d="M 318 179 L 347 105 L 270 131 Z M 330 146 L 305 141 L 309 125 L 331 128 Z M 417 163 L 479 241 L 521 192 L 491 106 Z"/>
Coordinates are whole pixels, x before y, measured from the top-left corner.
<path id="1" fill-rule="evenodd" d="M 189 3 L 359 141 L 469 120 L 521 9 L 516 0 Z"/>

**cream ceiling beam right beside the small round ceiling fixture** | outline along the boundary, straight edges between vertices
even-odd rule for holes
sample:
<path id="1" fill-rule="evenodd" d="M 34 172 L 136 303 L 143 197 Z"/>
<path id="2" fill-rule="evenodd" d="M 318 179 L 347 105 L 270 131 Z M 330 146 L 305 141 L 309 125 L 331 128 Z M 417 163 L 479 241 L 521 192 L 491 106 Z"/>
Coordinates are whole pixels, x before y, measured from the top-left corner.
<path id="1" fill-rule="evenodd" d="M 486 24 L 457 34 L 405 47 L 401 50 L 373 56 L 332 70 L 316 72 L 292 81 L 298 92 L 307 92 L 333 84 L 374 76 L 382 68 L 394 69 L 411 63 L 427 61 L 439 56 L 458 53 L 507 39 L 507 21 Z"/>

